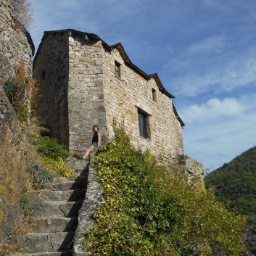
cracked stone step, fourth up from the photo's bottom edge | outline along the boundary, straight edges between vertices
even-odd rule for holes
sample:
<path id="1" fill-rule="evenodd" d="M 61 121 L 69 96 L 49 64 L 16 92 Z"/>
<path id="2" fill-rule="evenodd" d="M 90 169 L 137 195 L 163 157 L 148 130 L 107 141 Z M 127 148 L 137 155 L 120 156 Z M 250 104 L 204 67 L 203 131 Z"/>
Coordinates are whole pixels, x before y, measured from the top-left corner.
<path id="1" fill-rule="evenodd" d="M 38 202 L 36 210 L 31 212 L 33 218 L 76 218 L 82 202 Z"/>

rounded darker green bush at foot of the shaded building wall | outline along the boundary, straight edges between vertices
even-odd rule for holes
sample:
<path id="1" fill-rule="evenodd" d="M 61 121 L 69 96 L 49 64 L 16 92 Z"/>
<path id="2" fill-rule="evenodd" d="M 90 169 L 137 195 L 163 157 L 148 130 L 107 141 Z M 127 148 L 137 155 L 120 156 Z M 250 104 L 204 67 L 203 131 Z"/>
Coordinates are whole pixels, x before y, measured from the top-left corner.
<path id="1" fill-rule="evenodd" d="M 59 144 L 57 139 L 49 136 L 39 137 L 36 140 L 36 145 L 38 146 L 38 152 L 51 159 L 58 160 L 59 157 L 64 159 L 69 156 L 66 147 Z"/>

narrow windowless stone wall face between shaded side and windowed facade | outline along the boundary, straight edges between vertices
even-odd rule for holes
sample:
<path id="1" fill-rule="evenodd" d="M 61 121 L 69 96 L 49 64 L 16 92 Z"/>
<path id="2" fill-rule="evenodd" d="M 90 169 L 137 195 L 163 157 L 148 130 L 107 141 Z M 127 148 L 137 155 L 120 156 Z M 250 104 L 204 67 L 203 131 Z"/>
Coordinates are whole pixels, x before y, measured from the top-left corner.
<path id="1" fill-rule="evenodd" d="M 103 139 L 106 135 L 103 52 L 101 41 L 74 32 L 69 38 L 69 44 L 70 151 L 82 154 L 85 146 L 91 143 L 93 125 L 99 125 Z"/>

